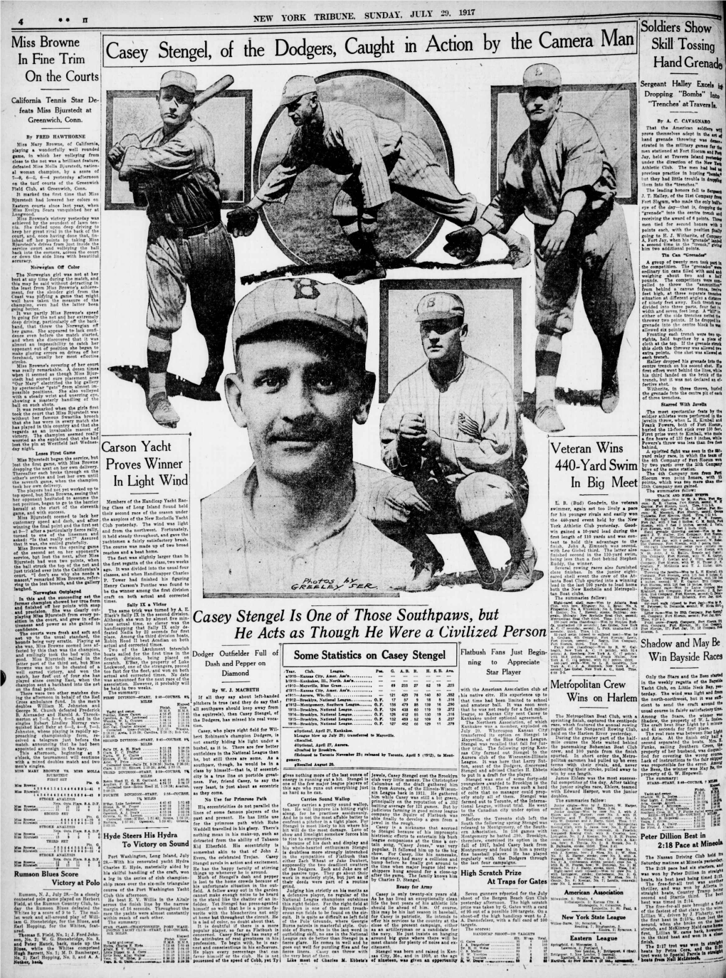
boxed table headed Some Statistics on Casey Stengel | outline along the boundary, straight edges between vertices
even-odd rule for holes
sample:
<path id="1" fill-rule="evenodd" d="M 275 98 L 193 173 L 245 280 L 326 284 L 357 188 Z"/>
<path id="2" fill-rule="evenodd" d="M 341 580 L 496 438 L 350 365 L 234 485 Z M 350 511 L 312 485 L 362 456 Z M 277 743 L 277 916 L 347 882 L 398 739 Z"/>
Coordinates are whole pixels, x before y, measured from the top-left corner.
<path id="1" fill-rule="evenodd" d="M 457 661 L 456 643 L 283 644 L 284 767 L 456 770 Z"/>

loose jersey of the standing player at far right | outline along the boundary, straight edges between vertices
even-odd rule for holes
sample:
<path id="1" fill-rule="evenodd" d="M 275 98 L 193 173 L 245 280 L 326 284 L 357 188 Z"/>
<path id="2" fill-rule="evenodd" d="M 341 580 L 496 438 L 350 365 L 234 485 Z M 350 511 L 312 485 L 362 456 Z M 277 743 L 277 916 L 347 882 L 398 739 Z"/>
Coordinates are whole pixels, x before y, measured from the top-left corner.
<path id="1" fill-rule="evenodd" d="M 560 111 L 544 139 L 531 128 L 507 156 L 499 192 L 482 215 L 497 231 L 507 231 L 526 214 L 533 224 L 554 224 L 570 190 L 584 190 L 583 219 L 607 216 L 615 197 L 615 174 L 592 122 L 577 112 Z"/>

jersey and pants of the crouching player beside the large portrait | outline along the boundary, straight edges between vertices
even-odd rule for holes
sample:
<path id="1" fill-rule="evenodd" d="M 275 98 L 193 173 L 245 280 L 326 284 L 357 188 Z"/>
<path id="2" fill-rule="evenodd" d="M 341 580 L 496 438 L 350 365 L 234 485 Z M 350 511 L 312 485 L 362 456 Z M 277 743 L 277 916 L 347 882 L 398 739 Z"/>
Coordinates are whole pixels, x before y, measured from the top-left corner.
<path id="1" fill-rule="evenodd" d="M 418 413 L 427 430 L 441 437 L 438 463 L 454 490 L 453 511 L 441 508 L 440 491 L 422 480 L 419 461 L 407 460 L 401 450 L 401 419 Z M 457 532 L 461 523 L 486 532 L 512 508 L 519 516 L 526 509 L 526 448 L 512 386 L 475 357 L 465 354 L 462 370 L 447 384 L 431 377 L 428 363 L 397 383 L 381 416 L 381 445 L 391 472 L 412 481 L 438 507 L 420 519 L 427 533 Z"/>

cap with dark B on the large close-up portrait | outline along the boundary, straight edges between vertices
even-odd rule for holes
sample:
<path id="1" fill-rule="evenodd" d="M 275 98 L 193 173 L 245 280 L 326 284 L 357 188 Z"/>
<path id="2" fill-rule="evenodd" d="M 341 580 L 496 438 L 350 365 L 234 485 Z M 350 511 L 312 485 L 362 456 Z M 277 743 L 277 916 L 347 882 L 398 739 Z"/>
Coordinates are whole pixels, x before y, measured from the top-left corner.
<path id="1" fill-rule="evenodd" d="M 271 279 L 237 303 L 232 317 L 232 344 L 270 326 L 310 323 L 338 333 L 363 350 L 368 342 L 366 311 L 355 295 L 337 282 Z"/>

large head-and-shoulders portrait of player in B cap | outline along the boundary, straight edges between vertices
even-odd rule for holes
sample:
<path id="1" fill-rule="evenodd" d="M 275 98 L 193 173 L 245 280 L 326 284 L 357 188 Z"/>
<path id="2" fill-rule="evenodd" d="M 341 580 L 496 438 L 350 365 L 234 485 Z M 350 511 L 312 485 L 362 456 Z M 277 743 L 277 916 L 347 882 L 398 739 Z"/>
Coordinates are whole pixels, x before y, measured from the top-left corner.
<path id="1" fill-rule="evenodd" d="M 202 501 L 204 596 L 426 590 L 436 552 L 400 516 L 418 494 L 353 462 L 352 427 L 376 385 L 357 297 L 339 283 L 270 280 L 241 299 L 231 336 L 227 404 L 253 465 Z"/>

